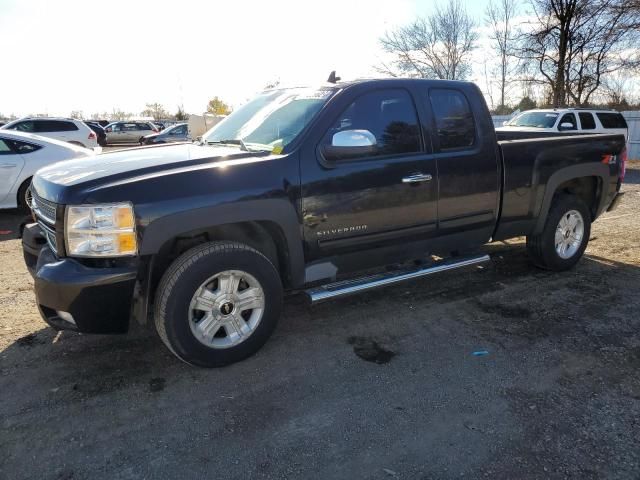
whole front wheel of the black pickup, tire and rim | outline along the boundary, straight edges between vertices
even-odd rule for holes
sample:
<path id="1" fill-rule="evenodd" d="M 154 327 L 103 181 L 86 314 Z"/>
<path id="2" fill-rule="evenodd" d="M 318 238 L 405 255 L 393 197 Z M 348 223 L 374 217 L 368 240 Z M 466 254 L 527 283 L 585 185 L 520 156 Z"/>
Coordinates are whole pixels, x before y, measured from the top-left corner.
<path id="1" fill-rule="evenodd" d="M 264 345 L 282 311 L 282 283 L 274 265 L 236 242 L 211 242 L 177 258 L 155 300 L 155 325 L 181 360 L 219 367 Z"/>

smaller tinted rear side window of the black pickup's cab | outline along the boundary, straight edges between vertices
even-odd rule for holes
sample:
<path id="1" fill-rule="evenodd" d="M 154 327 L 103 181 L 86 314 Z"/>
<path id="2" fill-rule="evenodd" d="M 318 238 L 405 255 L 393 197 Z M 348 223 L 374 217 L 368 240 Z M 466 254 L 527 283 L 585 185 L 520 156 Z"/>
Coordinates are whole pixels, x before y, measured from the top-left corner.
<path id="1" fill-rule="evenodd" d="M 458 90 L 434 88 L 429 91 L 429 99 L 440 150 L 472 147 L 476 139 L 476 127 L 467 97 Z"/>

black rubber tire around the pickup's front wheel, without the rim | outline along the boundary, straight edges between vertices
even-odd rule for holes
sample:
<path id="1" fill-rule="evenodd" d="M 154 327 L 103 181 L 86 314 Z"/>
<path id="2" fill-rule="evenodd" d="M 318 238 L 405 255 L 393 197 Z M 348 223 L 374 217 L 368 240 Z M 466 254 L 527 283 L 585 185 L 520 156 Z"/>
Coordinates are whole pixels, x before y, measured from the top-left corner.
<path id="1" fill-rule="evenodd" d="M 225 270 L 252 275 L 264 292 L 264 311 L 256 329 L 244 341 L 228 348 L 201 343 L 189 325 L 189 304 L 208 278 Z M 164 273 L 156 292 L 156 330 L 164 344 L 181 360 L 201 367 L 220 367 L 257 352 L 273 333 L 282 312 L 283 289 L 276 267 L 262 253 L 237 242 L 210 242 L 188 250 Z"/>

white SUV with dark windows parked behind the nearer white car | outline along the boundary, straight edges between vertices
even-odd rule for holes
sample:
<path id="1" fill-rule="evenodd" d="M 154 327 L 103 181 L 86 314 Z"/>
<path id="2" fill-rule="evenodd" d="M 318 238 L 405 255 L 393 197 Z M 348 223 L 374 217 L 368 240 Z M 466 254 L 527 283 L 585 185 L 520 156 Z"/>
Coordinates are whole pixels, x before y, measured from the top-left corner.
<path id="1" fill-rule="evenodd" d="M 0 127 L 73 143 L 81 147 L 96 148 L 98 137 L 82 120 L 74 118 L 25 117 Z"/>

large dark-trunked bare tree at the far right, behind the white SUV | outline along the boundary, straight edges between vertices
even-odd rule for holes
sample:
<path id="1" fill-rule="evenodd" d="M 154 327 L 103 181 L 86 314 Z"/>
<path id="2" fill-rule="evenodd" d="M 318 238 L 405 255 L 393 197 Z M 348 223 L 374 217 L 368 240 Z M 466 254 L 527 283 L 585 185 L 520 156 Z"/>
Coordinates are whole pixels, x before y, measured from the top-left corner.
<path id="1" fill-rule="evenodd" d="M 546 84 L 553 105 L 585 105 L 614 72 L 640 65 L 638 13 L 626 0 L 531 0 L 535 20 L 521 38 L 531 81 Z"/>

